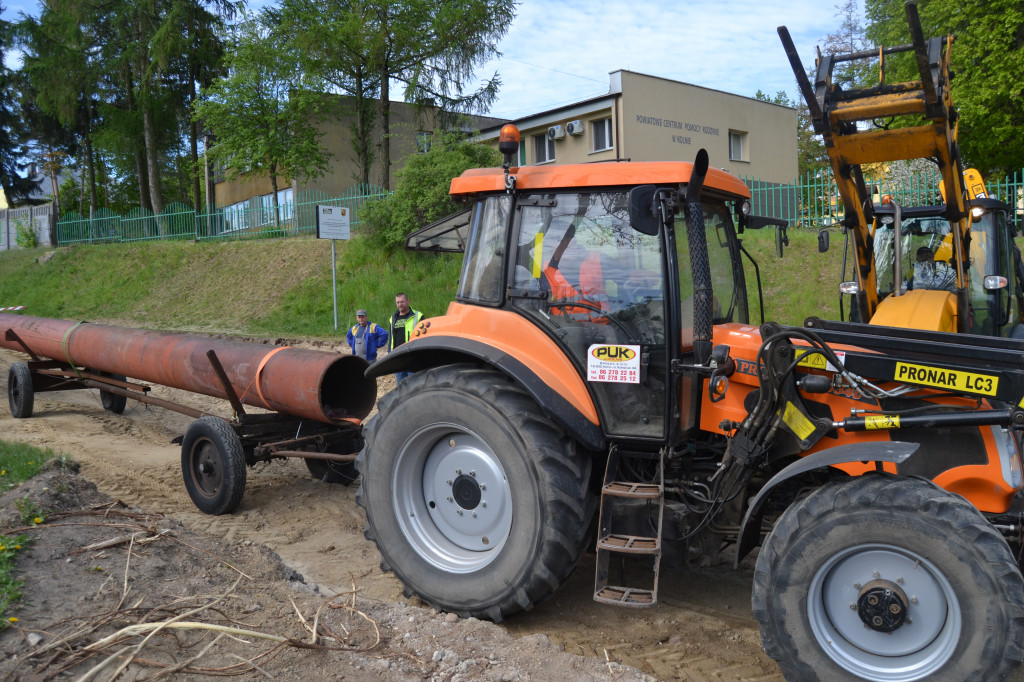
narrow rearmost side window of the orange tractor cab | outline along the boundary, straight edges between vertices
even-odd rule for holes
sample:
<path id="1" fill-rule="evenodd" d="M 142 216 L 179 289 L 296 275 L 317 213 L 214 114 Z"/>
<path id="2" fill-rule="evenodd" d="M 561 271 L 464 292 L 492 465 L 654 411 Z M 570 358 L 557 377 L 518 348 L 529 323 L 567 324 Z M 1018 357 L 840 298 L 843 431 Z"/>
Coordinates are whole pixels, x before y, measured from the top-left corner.
<path id="1" fill-rule="evenodd" d="M 481 303 L 500 303 L 505 238 L 508 233 L 508 195 L 488 197 L 473 207 L 469 245 L 459 279 L 459 298 Z"/>

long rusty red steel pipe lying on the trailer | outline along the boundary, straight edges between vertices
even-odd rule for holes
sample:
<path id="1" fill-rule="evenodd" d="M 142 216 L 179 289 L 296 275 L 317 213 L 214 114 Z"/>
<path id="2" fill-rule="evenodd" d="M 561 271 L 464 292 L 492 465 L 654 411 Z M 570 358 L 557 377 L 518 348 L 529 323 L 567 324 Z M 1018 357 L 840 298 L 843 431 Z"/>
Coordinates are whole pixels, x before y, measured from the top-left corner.
<path id="1" fill-rule="evenodd" d="M 366 360 L 321 350 L 10 313 L 0 313 L 0 347 L 227 399 L 213 350 L 245 404 L 328 424 L 364 419 L 377 399 Z"/>

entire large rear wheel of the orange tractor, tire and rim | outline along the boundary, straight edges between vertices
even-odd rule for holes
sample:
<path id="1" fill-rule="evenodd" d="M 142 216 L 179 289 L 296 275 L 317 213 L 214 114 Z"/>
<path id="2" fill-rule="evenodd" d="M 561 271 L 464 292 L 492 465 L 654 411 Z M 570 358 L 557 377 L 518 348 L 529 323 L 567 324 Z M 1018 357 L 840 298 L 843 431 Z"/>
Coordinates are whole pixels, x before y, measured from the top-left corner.
<path id="1" fill-rule="evenodd" d="M 457 365 L 414 374 L 379 408 L 356 501 L 408 596 L 500 621 L 565 582 L 595 507 L 591 463 L 524 390 Z"/>

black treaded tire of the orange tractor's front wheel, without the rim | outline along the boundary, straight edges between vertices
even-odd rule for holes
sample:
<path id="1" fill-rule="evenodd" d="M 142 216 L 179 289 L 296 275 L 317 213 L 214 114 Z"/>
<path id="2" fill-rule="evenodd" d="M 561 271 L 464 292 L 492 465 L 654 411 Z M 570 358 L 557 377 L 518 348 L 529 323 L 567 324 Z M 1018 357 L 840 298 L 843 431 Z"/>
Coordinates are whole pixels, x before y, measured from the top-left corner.
<path id="1" fill-rule="evenodd" d="M 856 534 L 857 538 L 843 540 Z M 956 649 L 934 680 L 1004 680 L 1024 659 L 1024 579 L 1002 537 L 964 498 L 920 479 L 867 474 L 823 485 L 779 518 L 758 555 L 754 615 L 786 680 L 861 679 L 815 640 L 807 593 L 836 551 L 904 547 L 943 571 L 963 616 Z"/>

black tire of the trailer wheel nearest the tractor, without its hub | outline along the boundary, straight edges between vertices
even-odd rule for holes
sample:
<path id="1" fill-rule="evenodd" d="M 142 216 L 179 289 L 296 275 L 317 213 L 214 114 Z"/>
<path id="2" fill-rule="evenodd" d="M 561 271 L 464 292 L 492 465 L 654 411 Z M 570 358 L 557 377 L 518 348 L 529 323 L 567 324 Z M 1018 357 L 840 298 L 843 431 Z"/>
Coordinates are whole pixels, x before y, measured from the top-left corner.
<path id="1" fill-rule="evenodd" d="M 223 483 L 215 495 L 207 495 L 194 478 L 191 452 L 203 441 L 217 450 Z M 219 417 L 200 417 L 185 430 L 181 440 L 181 475 L 193 504 L 205 514 L 219 516 L 238 509 L 246 492 L 246 459 L 242 440 L 230 424 Z"/>

